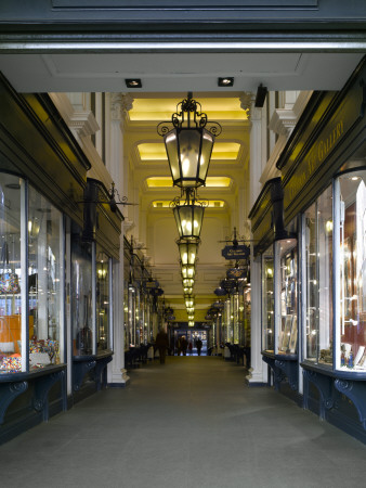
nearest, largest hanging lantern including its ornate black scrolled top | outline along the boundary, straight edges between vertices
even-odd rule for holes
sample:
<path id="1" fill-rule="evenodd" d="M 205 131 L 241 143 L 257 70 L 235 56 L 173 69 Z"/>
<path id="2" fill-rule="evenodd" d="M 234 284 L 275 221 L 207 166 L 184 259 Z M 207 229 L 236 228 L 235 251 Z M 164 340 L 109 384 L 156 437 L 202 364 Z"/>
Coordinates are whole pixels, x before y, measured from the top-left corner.
<path id="1" fill-rule="evenodd" d="M 164 137 L 173 185 L 198 188 L 205 185 L 214 138 L 221 126 L 208 121 L 200 103 L 192 93 L 177 105 L 171 120 L 158 125 L 158 134 Z"/>

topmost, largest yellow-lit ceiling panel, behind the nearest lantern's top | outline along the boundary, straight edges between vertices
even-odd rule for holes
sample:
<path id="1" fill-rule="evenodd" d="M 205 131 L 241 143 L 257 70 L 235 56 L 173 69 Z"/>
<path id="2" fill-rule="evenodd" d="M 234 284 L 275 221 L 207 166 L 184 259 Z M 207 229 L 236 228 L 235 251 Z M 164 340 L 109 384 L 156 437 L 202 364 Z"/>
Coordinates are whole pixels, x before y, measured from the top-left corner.
<path id="1" fill-rule="evenodd" d="M 171 120 L 177 105 L 183 100 L 177 99 L 145 99 L 135 98 L 133 107 L 129 111 L 131 121 L 162 121 Z M 201 104 L 201 110 L 209 120 L 247 120 L 247 112 L 240 106 L 240 99 L 233 98 L 200 98 L 194 97 Z"/>

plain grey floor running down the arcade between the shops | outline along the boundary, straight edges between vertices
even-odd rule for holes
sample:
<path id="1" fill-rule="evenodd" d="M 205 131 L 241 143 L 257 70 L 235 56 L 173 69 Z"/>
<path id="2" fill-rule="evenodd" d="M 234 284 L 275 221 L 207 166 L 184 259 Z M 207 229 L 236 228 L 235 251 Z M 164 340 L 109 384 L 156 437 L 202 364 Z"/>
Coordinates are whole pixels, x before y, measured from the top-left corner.
<path id="1" fill-rule="evenodd" d="M 366 486 L 366 446 L 221 358 L 174 357 L 0 447 L 3 487 Z"/>

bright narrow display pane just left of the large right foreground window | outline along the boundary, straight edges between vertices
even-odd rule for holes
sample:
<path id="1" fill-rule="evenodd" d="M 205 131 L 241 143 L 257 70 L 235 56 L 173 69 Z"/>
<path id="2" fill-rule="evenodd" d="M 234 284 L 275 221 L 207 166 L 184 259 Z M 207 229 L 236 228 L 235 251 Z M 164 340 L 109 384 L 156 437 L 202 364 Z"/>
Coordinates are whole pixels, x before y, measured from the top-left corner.
<path id="1" fill-rule="evenodd" d="M 275 272 L 277 300 L 275 314 L 278 324 L 276 354 L 297 354 L 298 343 L 298 247 L 296 239 L 275 242 Z"/>

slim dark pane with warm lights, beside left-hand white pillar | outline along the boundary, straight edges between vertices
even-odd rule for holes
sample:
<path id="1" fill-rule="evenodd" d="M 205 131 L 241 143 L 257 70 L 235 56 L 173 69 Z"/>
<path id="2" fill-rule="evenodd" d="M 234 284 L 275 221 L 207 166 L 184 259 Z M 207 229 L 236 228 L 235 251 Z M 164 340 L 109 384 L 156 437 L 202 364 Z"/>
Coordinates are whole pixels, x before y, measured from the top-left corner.
<path id="1" fill-rule="evenodd" d="M 110 349 L 110 258 L 96 245 L 96 348 Z"/>

